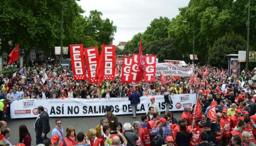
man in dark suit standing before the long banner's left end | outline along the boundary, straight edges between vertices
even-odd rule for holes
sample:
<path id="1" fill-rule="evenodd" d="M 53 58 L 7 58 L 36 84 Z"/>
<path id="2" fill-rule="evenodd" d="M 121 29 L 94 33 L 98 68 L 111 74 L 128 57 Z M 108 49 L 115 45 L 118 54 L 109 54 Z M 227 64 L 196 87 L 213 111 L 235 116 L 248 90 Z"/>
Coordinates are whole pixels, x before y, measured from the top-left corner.
<path id="1" fill-rule="evenodd" d="M 35 128 L 36 144 L 38 145 L 43 143 L 43 140 L 48 139 L 46 135 L 50 132 L 51 127 L 49 124 L 49 115 L 44 111 L 44 107 L 39 106 L 37 111 L 39 115 L 33 127 Z"/>

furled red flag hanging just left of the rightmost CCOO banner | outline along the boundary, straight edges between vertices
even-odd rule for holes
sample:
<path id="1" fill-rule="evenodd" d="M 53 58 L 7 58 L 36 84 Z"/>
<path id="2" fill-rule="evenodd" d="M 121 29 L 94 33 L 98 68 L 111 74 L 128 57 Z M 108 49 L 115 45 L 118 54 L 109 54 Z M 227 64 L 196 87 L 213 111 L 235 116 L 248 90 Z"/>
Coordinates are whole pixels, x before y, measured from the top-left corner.
<path id="1" fill-rule="evenodd" d="M 103 45 L 101 47 L 101 53 L 100 58 L 98 60 L 97 66 L 96 66 L 96 79 L 98 79 L 98 86 L 100 86 L 100 83 L 102 83 L 103 77 L 104 77 L 104 65 L 105 65 L 105 41 L 103 42 Z"/>

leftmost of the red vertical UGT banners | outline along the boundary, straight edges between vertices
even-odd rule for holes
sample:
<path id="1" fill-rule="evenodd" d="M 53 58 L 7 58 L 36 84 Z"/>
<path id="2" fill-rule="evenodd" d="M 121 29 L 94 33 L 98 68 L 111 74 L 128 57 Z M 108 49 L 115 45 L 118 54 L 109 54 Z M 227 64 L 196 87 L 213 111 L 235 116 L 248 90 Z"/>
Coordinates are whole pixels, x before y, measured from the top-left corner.
<path id="1" fill-rule="evenodd" d="M 129 80 L 131 67 L 132 67 L 132 57 L 124 56 L 123 68 L 122 68 L 122 83 L 132 83 L 132 81 Z"/>

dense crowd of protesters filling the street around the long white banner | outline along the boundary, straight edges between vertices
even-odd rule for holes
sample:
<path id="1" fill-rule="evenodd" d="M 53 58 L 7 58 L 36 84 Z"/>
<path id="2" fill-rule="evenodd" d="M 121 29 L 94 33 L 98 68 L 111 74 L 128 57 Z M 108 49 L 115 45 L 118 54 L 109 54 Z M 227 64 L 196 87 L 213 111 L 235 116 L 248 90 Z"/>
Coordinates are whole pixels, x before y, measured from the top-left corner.
<path id="1" fill-rule="evenodd" d="M 107 107 L 105 116 L 99 125 L 91 127 L 86 136 L 83 132 L 75 133 L 73 127 L 65 130 L 61 120 L 56 120 L 52 130 L 52 139 L 44 140 L 48 145 L 121 145 L 121 146 L 196 146 L 196 145 L 243 145 L 256 144 L 256 86 L 252 77 L 254 71 L 240 76 L 228 75 L 227 71 L 214 67 L 195 66 L 196 81 L 190 77 L 174 79 L 167 77 L 165 83 L 156 78 L 155 82 L 138 84 L 122 83 L 117 76 L 114 81 L 103 81 L 100 86 L 89 84 L 88 81 L 75 81 L 71 68 L 60 68 L 57 61 L 46 61 L 44 68 L 38 64 L 11 74 L 0 74 L 0 145 L 8 143 L 11 129 L 6 128 L 10 119 L 10 103 L 23 99 L 53 99 L 53 98 L 128 98 L 131 101 L 133 118 L 136 118 L 136 108 L 141 96 L 148 96 L 151 103 L 148 111 L 141 116 L 141 121 L 119 123 L 111 107 Z M 120 67 L 120 64 L 117 64 Z M 209 74 L 202 75 L 207 71 Z M 120 72 L 120 70 L 119 70 Z M 44 73 L 48 79 L 42 83 Z M 28 83 L 28 84 L 27 84 Z M 169 106 L 172 106 L 171 96 L 174 94 L 196 94 L 200 99 L 203 116 L 200 120 L 191 118 L 195 105 L 185 106 L 180 118 L 174 118 Z M 154 95 L 165 96 L 166 110 L 164 117 Z M 207 117 L 211 105 L 214 104 L 217 122 Z M 72 126 L 72 125 L 71 125 Z M 19 126 L 20 143 L 31 144 L 30 134 L 25 125 Z M 21 134 L 25 133 L 25 134 Z M 45 133 L 47 134 L 47 133 Z M 159 138 L 160 134 L 160 140 Z M 157 137 L 158 136 L 158 137 Z M 98 139 L 98 140 L 97 140 Z M 161 139 L 163 140 L 161 142 Z M 101 141 L 103 140 L 103 141 Z M 22 144 L 20 144 L 22 145 Z M 40 144 L 39 144 L 40 145 Z"/>

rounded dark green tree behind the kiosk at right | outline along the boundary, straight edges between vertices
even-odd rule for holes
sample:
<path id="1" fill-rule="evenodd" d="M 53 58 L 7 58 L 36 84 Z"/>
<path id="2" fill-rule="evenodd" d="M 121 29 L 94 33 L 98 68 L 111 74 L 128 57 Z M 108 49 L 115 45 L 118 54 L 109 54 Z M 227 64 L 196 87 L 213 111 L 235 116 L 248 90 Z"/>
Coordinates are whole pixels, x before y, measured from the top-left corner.
<path id="1" fill-rule="evenodd" d="M 215 67 L 228 67 L 228 54 L 238 54 L 238 51 L 246 49 L 246 41 L 239 34 L 226 33 L 223 37 L 217 39 L 213 47 L 209 49 L 208 62 Z"/>

